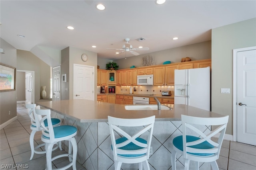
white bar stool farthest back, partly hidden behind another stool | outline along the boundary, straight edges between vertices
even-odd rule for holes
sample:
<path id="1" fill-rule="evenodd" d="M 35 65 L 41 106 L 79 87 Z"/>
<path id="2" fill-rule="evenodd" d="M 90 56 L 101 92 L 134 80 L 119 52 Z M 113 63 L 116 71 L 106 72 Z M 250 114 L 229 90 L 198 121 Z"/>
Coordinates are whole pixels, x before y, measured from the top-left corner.
<path id="1" fill-rule="evenodd" d="M 29 143 L 30 143 L 30 148 L 31 148 L 30 160 L 32 160 L 32 158 L 34 156 L 34 153 L 36 153 L 36 154 L 46 153 L 45 150 L 43 150 L 43 151 L 38 150 L 40 147 L 43 147 L 45 145 L 45 143 L 42 143 L 41 145 L 38 145 L 37 147 L 34 147 L 34 136 L 35 136 L 36 132 L 42 130 L 42 128 L 40 127 L 40 122 L 39 122 L 38 116 L 35 115 L 35 113 L 36 113 L 35 108 L 40 109 L 40 106 L 36 106 L 36 104 L 30 104 L 29 102 L 27 102 L 26 103 L 26 108 L 28 109 L 28 115 L 29 115 L 30 120 L 31 120 L 30 129 L 32 130 L 32 132 L 30 133 Z M 40 118 L 42 118 L 42 116 Z M 52 120 L 52 125 L 54 127 L 60 125 L 60 119 L 52 118 L 51 120 Z M 45 123 L 46 126 L 48 126 L 47 121 L 44 121 L 44 123 Z M 56 150 L 58 147 L 60 148 L 60 150 L 62 150 L 61 142 L 58 143 L 56 147 L 54 147 L 54 150 Z"/>

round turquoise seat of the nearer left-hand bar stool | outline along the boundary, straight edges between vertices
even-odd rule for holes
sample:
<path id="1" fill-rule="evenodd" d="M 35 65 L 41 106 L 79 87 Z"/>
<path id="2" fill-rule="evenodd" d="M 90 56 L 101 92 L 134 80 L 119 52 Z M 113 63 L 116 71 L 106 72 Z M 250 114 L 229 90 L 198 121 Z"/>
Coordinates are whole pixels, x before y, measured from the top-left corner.
<path id="1" fill-rule="evenodd" d="M 77 129 L 74 126 L 62 125 L 62 126 L 54 127 L 53 131 L 54 131 L 54 137 L 55 138 L 61 138 L 61 137 L 66 137 L 68 135 L 72 135 L 73 133 L 76 133 Z M 44 137 L 49 138 L 49 137 L 46 137 L 46 136 L 44 136 Z"/>

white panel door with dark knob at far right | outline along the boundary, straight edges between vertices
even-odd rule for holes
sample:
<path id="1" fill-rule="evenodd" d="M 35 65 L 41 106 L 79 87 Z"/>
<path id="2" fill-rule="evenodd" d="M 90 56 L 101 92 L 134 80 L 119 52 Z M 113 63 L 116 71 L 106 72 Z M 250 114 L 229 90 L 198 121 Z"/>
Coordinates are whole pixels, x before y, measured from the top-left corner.
<path id="1" fill-rule="evenodd" d="M 237 53 L 237 141 L 256 145 L 256 50 Z"/>

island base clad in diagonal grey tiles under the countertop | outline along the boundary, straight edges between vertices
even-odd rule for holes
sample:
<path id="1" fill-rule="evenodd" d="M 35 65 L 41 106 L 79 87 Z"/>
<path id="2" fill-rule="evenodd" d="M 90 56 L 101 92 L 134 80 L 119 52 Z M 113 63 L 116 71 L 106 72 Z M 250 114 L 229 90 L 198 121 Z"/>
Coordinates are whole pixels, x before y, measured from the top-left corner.
<path id="1" fill-rule="evenodd" d="M 72 125 L 78 128 L 76 143 L 78 147 L 77 161 L 87 170 L 114 170 L 114 160 L 111 150 L 111 139 L 107 122 L 81 123 L 52 111 L 53 117 L 62 120 L 62 125 Z M 205 132 L 210 127 L 202 127 Z M 148 160 L 151 170 L 171 169 L 172 139 L 182 135 L 181 121 L 156 121 L 151 146 L 153 154 Z M 67 151 L 67 142 L 62 146 Z M 177 170 L 184 169 L 184 159 L 177 155 Z M 190 161 L 190 169 L 194 169 Z M 138 170 L 138 164 L 122 164 L 123 169 Z M 200 162 L 200 170 L 210 170 L 209 163 Z"/>

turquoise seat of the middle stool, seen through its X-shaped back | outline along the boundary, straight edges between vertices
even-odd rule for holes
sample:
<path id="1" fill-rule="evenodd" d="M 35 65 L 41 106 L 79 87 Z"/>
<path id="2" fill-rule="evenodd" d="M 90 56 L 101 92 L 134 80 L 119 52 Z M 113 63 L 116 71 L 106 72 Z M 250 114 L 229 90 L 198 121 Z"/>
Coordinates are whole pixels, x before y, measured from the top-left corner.
<path id="1" fill-rule="evenodd" d="M 128 139 L 126 137 L 121 137 L 119 139 L 116 139 L 116 144 L 119 144 L 119 143 L 122 143 L 124 141 L 127 141 Z M 145 139 L 142 139 L 142 138 L 139 138 L 137 137 L 135 139 L 136 141 L 138 142 L 141 142 L 141 143 L 147 143 L 147 141 Z M 113 147 L 111 145 L 111 149 L 113 150 Z M 140 147 L 138 145 L 135 145 L 134 143 L 129 143 L 128 145 L 125 145 L 124 147 L 120 147 L 118 149 L 123 149 L 123 150 L 138 150 L 138 149 L 143 149 L 143 147 Z M 125 157 L 136 157 L 136 156 L 142 156 L 142 155 L 145 155 L 145 154 L 118 154 L 120 156 L 125 156 Z"/>

